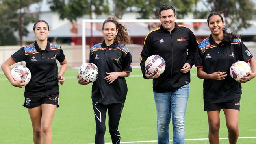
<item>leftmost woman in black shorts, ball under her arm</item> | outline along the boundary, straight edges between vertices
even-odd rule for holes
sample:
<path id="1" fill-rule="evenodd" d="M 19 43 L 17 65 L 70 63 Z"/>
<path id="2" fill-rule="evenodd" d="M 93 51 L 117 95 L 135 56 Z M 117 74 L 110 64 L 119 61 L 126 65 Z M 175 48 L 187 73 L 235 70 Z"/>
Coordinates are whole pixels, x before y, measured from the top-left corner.
<path id="1" fill-rule="evenodd" d="M 52 119 L 56 107 L 59 107 L 59 85 L 65 82 L 63 74 L 67 69 L 67 61 L 63 50 L 56 44 L 48 42 L 49 24 L 45 20 L 38 20 L 33 26 L 36 40 L 34 43 L 20 48 L 2 64 L 2 70 L 11 85 L 25 87 L 24 107 L 33 127 L 33 141 L 35 144 L 52 143 Z M 61 64 L 58 72 L 56 60 Z M 14 81 L 9 67 L 17 62 L 25 61 L 30 69 L 31 80 Z"/>

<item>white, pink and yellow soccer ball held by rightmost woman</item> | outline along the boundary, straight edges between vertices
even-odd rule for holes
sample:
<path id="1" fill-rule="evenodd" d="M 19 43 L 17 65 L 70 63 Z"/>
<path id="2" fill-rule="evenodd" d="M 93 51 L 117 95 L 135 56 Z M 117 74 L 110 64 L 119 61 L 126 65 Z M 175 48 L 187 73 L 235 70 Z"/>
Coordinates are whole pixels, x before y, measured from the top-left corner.
<path id="1" fill-rule="evenodd" d="M 248 76 L 246 74 L 247 72 L 252 72 L 252 70 L 250 66 L 244 61 L 237 61 L 230 67 L 230 76 L 238 82 L 241 80 L 241 78 Z"/>

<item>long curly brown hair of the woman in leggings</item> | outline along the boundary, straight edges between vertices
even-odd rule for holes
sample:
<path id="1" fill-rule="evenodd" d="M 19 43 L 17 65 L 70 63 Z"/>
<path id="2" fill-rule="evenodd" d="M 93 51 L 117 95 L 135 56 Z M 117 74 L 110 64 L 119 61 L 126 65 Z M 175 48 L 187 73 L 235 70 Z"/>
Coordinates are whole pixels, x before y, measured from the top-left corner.
<path id="1" fill-rule="evenodd" d="M 123 26 L 118 22 L 117 17 L 112 17 L 112 16 L 108 17 L 108 19 L 106 19 L 103 22 L 102 30 L 104 29 L 104 25 L 107 22 L 113 22 L 116 26 L 116 29 L 118 30 L 117 36 L 115 36 L 115 39 L 114 39 L 115 45 L 121 44 L 125 46 L 127 44 L 132 44 L 132 39 L 128 35 L 129 30 L 126 28 L 126 26 Z"/>

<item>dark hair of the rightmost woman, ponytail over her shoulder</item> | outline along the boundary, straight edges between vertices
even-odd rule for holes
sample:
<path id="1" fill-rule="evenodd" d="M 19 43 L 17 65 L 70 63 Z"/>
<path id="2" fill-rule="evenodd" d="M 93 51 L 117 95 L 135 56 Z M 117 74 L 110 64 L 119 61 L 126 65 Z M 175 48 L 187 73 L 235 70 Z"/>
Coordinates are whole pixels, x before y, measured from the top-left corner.
<path id="1" fill-rule="evenodd" d="M 210 22 L 210 17 L 213 15 L 218 15 L 219 17 L 221 17 L 221 21 L 223 22 L 223 17 L 221 16 L 221 14 L 214 11 L 214 12 L 211 12 L 207 18 L 208 25 Z M 241 35 L 239 35 L 239 36 L 236 35 L 236 31 L 228 33 L 226 26 L 223 26 L 222 32 L 223 32 L 223 38 L 222 38 L 221 42 L 223 44 L 230 44 L 234 39 L 239 39 L 241 37 Z"/>

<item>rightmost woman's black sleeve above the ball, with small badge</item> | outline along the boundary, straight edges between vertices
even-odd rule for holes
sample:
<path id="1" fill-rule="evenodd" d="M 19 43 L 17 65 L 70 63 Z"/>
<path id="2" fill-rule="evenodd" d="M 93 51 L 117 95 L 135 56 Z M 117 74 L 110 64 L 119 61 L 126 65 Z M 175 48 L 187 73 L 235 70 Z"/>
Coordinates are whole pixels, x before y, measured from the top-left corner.
<path id="1" fill-rule="evenodd" d="M 238 60 L 248 62 L 253 56 L 243 42 L 240 43 L 239 50 L 237 50 Z"/>

